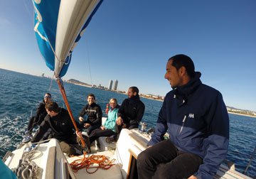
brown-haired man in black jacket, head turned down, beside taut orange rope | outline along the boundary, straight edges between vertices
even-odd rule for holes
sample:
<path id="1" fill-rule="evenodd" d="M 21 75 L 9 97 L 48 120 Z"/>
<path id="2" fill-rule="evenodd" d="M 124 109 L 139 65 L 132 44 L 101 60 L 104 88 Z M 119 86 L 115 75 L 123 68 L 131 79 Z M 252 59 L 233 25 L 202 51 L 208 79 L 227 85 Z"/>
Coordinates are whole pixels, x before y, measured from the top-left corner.
<path id="1" fill-rule="evenodd" d="M 56 102 L 50 102 L 46 104 L 46 118 L 39 126 L 38 131 L 31 139 L 31 142 L 38 142 L 48 129 L 52 130 L 53 138 L 58 139 L 60 142 L 60 148 L 68 156 L 79 156 L 80 154 L 75 151 L 70 144 L 78 144 L 80 138 L 74 133 L 74 125 L 70 119 L 70 115 L 66 109 L 58 107 Z M 77 124 L 80 126 L 80 124 Z M 88 140 L 85 140 L 88 142 Z M 86 145 L 90 150 L 90 144 Z"/>

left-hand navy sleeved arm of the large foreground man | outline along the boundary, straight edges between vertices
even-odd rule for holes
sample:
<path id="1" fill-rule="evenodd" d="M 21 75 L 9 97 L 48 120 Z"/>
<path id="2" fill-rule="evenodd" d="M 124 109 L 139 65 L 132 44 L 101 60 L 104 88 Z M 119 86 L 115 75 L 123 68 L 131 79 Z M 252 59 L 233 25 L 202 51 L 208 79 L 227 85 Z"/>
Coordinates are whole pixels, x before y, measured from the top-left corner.
<path id="1" fill-rule="evenodd" d="M 164 140 L 164 134 L 167 131 L 167 119 L 166 119 L 166 100 L 164 100 L 163 106 L 160 109 L 159 117 L 156 122 L 156 128 L 154 133 L 151 136 L 151 140 L 147 146 L 153 146 L 159 141 Z"/>

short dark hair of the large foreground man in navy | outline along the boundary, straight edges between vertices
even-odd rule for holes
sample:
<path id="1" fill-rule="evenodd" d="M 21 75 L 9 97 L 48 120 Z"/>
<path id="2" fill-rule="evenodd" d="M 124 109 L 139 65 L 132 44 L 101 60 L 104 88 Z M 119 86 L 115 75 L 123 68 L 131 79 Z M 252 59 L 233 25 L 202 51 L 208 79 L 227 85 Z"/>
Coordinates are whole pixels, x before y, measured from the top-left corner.
<path id="1" fill-rule="evenodd" d="M 180 69 L 181 67 L 185 67 L 189 77 L 195 76 L 195 66 L 193 64 L 193 60 L 187 55 L 183 55 L 183 54 L 174 55 L 173 57 L 169 58 L 169 60 L 173 60 L 172 65 L 177 70 Z"/>

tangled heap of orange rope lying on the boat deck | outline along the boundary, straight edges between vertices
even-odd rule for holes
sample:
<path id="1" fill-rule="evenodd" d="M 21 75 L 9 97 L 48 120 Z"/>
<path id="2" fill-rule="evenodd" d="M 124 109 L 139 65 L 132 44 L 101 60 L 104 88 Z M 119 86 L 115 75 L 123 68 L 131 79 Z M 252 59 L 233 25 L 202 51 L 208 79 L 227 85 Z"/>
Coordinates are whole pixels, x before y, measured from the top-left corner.
<path id="1" fill-rule="evenodd" d="M 83 158 L 77 159 L 70 163 L 71 168 L 73 169 L 73 172 L 78 172 L 78 170 L 82 168 L 86 168 L 87 173 L 95 173 L 99 168 L 102 168 L 103 170 L 110 169 L 112 166 L 114 166 L 115 159 L 112 159 L 111 161 L 106 156 L 98 156 L 98 155 L 92 155 L 92 156 L 85 156 L 86 152 L 83 153 Z M 96 165 L 94 165 L 96 164 Z M 94 171 L 90 171 L 90 168 L 95 168 Z"/>

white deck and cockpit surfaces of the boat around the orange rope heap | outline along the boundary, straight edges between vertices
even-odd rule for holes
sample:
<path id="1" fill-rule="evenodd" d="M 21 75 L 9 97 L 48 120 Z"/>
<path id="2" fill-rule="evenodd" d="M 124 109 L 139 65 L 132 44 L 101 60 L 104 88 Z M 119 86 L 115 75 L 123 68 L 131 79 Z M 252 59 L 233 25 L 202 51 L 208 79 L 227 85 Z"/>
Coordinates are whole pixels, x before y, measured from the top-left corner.
<path id="1" fill-rule="evenodd" d="M 146 143 L 149 141 L 149 137 L 141 134 L 138 130 L 122 129 L 117 143 L 107 143 L 105 137 L 100 137 L 100 148 L 96 150 L 92 147 L 92 151 L 95 151 L 95 155 L 105 155 L 107 158 L 115 158 L 116 165 L 112 166 L 109 170 L 99 169 L 96 173 L 89 174 L 85 169 L 79 170 L 77 173 L 73 173 L 68 163 L 78 159 L 82 156 L 75 156 L 73 158 L 65 158 L 63 152 L 60 150 L 58 141 L 50 139 L 48 143 L 41 143 L 37 150 L 41 151 L 40 157 L 33 159 L 33 161 L 43 169 L 43 173 L 39 178 L 71 178 L 84 179 L 84 178 L 132 178 L 131 170 L 140 152 L 146 148 Z M 115 150 L 114 150 L 114 146 Z M 5 161 L 9 168 L 16 168 L 18 161 L 21 158 L 26 146 L 13 151 L 13 156 L 10 156 Z M 132 159 L 133 158 L 133 159 Z M 133 160 L 133 161 L 132 161 Z M 136 163 L 136 161 L 135 161 Z M 94 169 L 92 169 L 94 170 Z M 246 175 L 238 173 L 235 170 L 228 168 L 227 166 L 221 165 L 217 174 L 214 178 L 223 179 L 240 179 L 247 178 Z"/>

